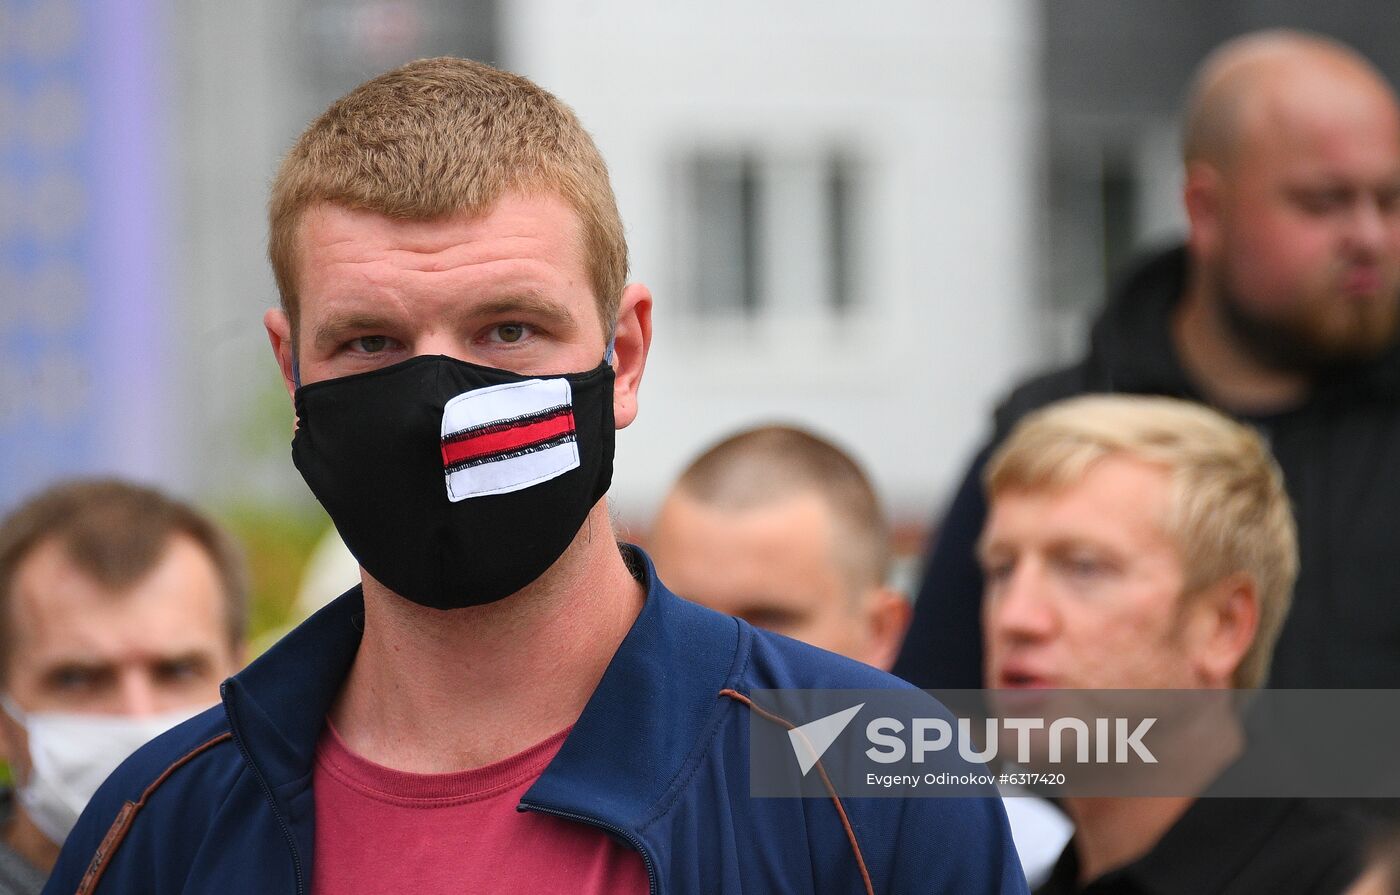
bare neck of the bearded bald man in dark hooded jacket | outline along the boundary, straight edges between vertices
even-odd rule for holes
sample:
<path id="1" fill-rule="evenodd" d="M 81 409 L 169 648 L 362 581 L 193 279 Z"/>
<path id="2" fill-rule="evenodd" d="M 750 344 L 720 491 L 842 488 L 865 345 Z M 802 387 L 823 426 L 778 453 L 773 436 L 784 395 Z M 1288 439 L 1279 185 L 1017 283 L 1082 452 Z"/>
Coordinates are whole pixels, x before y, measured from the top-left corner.
<path id="1" fill-rule="evenodd" d="M 1211 403 L 1233 413 L 1263 416 L 1302 403 L 1308 377 L 1252 357 L 1231 335 L 1219 300 L 1200 265 L 1193 263 L 1186 294 L 1172 317 L 1172 343 L 1191 381 Z"/>

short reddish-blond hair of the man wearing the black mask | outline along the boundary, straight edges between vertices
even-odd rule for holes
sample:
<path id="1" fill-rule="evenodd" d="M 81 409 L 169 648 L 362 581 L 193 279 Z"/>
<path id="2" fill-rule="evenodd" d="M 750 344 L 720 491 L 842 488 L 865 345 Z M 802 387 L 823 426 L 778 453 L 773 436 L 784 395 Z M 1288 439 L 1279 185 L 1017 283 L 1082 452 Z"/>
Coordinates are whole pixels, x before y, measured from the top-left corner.
<path id="1" fill-rule="evenodd" d="M 603 332 L 627 280 L 627 240 L 592 137 L 532 81 L 469 59 L 420 59 L 356 87 L 314 120 L 272 186 L 267 256 L 297 326 L 297 233 L 329 202 L 400 220 L 487 213 L 505 193 L 578 214 Z"/>

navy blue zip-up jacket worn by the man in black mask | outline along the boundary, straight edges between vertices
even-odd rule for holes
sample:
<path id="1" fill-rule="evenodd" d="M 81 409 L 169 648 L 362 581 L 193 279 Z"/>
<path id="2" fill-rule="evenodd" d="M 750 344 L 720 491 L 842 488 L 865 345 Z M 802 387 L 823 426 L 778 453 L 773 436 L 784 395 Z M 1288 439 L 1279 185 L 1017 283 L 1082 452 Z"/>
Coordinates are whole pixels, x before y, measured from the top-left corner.
<path id="1" fill-rule="evenodd" d="M 686 602 L 636 564 L 647 602 L 521 810 L 630 843 L 657 894 L 1026 891 L 998 800 L 752 798 L 749 724 L 771 721 L 742 695 L 909 685 Z M 344 594 L 225 681 L 223 706 L 127 759 L 45 895 L 308 895 L 316 740 L 363 606 Z"/>

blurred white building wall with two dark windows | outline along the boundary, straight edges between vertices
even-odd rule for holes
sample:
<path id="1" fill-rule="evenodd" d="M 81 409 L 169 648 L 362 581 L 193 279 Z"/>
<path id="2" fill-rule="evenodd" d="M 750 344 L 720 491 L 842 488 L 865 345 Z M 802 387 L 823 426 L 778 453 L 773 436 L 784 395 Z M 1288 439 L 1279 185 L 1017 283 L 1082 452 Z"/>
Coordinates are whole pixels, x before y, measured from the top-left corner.
<path id="1" fill-rule="evenodd" d="M 624 517 L 650 518 L 704 444 L 787 420 L 923 521 L 1036 360 L 1032 7 L 507 8 L 503 57 L 595 134 L 655 293 Z"/>

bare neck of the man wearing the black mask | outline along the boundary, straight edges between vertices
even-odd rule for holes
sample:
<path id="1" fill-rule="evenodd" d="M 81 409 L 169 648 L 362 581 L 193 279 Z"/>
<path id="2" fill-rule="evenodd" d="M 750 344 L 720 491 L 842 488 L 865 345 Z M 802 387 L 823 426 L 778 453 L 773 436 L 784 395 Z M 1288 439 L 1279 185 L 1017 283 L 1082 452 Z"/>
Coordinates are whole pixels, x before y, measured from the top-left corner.
<path id="1" fill-rule="evenodd" d="M 364 639 L 330 720 L 358 755 L 442 773 L 573 724 L 645 594 L 599 501 L 564 555 L 505 599 L 440 611 L 365 576 Z"/>

